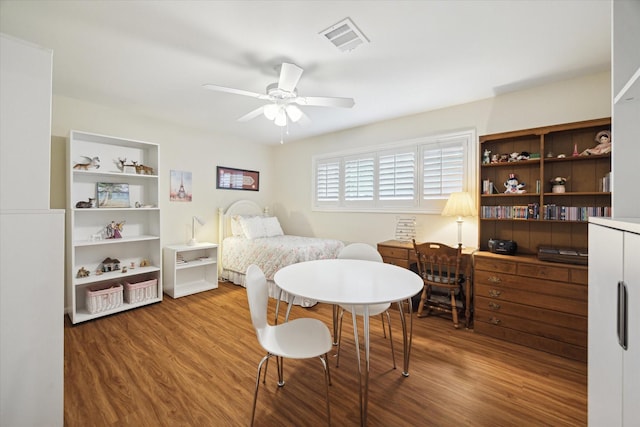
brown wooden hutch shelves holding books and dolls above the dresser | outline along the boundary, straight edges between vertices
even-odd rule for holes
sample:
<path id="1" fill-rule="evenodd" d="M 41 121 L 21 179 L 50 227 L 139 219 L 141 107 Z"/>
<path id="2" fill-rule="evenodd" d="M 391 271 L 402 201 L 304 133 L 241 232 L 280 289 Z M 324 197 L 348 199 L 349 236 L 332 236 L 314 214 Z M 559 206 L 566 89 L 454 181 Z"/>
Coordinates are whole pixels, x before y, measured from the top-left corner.
<path id="1" fill-rule="evenodd" d="M 535 254 L 539 246 L 587 247 L 586 215 L 610 216 L 611 192 L 603 191 L 603 179 L 611 172 L 611 154 L 573 153 L 594 147 L 596 134 L 610 129 L 611 119 L 602 118 L 481 136 L 481 153 L 540 157 L 480 165 L 480 182 L 492 182 L 493 189 L 491 194 L 480 189 L 480 250 L 488 250 L 491 238 L 516 241 L 520 254 Z M 525 183 L 524 193 L 504 193 L 510 174 Z M 550 181 L 557 176 L 567 178 L 564 193 L 552 192 Z M 553 205 L 557 208 L 549 208 Z M 521 215 L 522 207 L 528 214 Z M 558 214 L 545 216 L 545 207 Z"/>

